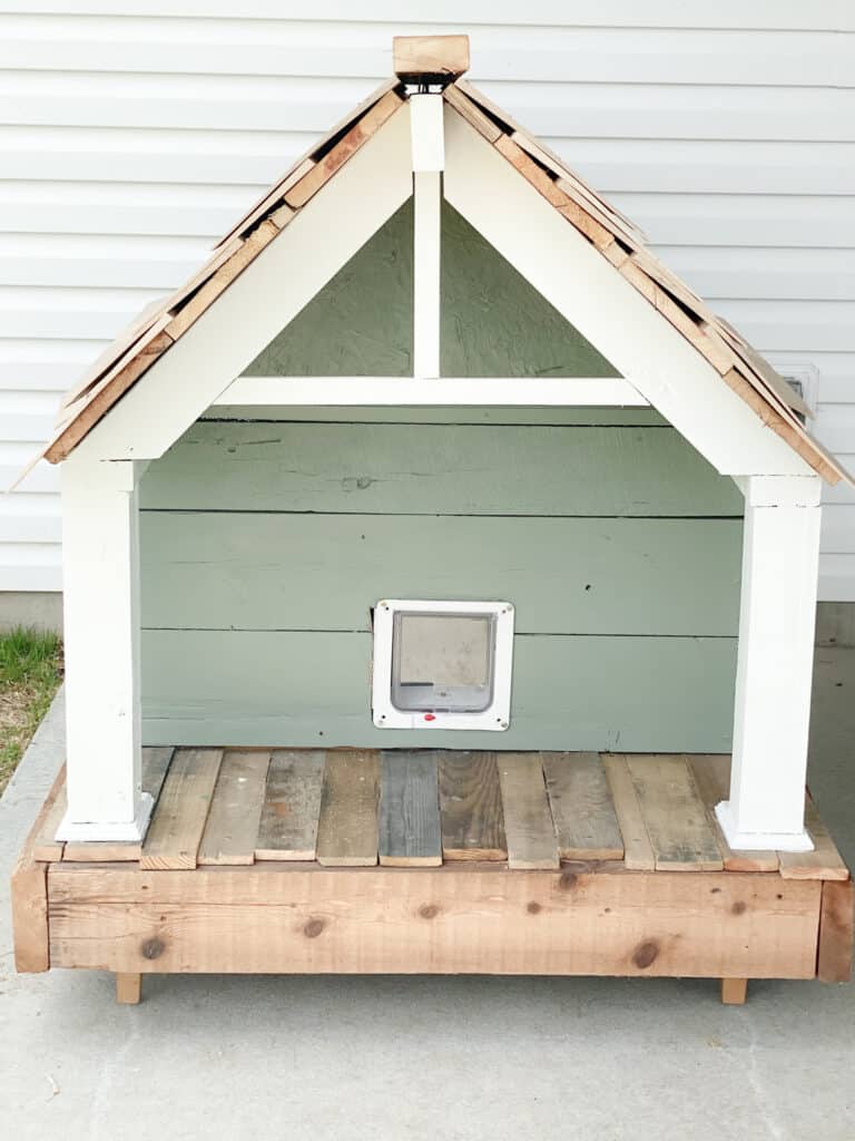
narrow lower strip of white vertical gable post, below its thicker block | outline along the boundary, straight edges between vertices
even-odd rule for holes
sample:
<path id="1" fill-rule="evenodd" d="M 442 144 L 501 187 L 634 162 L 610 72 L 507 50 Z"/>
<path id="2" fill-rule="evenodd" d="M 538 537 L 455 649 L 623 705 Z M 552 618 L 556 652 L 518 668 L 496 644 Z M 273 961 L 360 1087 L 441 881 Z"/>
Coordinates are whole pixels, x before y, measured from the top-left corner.
<path id="1" fill-rule="evenodd" d="M 413 173 L 413 372 L 423 378 L 439 377 L 441 181 L 439 171 Z"/>

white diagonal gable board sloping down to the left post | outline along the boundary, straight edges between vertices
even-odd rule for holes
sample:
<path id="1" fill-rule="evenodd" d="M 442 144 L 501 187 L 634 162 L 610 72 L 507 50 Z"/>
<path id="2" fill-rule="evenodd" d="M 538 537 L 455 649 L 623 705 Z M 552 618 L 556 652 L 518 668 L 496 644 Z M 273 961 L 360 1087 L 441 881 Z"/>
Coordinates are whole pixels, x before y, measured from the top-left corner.
<path id="1" fill-rule="evenodd" d="M 78 451 L 92 460 L 163 455 L 412 193 L 402 104 Z"/>

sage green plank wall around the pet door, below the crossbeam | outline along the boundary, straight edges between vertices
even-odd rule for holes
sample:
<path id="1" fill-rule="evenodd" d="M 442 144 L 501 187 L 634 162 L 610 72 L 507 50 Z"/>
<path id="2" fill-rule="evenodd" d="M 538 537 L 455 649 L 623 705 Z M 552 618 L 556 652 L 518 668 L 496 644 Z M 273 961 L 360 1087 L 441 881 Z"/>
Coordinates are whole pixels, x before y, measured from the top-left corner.
<path id="1" fill-rule="evenodd" d="M 225 414 L 142 479 L 147 743 L 730 747 L 741 496 L 654 413 Z M 383 596 L 515 604 L 507 733 L 373 727 Z"/>

